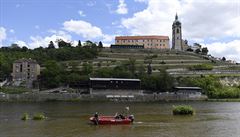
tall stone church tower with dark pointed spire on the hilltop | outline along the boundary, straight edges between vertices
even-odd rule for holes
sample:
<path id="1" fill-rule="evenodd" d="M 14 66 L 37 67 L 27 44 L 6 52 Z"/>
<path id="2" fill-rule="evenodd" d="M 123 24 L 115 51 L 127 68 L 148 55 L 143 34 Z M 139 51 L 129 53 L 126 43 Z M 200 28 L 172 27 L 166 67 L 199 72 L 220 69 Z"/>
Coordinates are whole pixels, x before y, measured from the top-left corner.
<path id="1" fill-rule="evenodd" d="M 176 14 L 172 25 L 172 49 L 175 50 L 183 50 L 181 26 L 181 22 L 178 20 L 178 15 Z"/>

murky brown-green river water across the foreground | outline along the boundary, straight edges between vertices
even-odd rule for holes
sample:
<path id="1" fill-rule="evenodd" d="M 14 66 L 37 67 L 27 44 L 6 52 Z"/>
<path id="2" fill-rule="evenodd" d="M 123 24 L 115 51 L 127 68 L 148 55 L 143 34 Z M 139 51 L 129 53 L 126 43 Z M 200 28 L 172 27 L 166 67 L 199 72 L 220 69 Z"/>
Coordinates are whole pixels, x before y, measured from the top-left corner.
<path id="1" fill-rule="evenodd" d="M 172 106 L 191 105 L 194 116 L 173 116 Z M 92 125 L 96 111 L 134 114 L 132 125 Z M 44 113 L 43 121 L 21 121 L 23 113 Z M 238 102 L 41 102 L 0 103 L 0 137 L 239 137 Z"/>

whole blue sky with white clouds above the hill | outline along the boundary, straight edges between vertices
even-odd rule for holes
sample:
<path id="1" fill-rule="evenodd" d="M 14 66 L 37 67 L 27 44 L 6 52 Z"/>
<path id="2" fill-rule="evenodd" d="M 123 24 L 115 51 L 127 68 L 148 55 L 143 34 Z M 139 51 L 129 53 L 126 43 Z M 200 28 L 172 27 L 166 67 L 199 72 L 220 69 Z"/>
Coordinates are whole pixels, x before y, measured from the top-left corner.
<path id="1" fill-rule="evenodd" d="M 0 47 L 34 49 L 56 39 L 109 46 L 121 35 L 171 40 L 176 13 L 183 39 L 240 62 L 240 0 L 0 0 Z"/>

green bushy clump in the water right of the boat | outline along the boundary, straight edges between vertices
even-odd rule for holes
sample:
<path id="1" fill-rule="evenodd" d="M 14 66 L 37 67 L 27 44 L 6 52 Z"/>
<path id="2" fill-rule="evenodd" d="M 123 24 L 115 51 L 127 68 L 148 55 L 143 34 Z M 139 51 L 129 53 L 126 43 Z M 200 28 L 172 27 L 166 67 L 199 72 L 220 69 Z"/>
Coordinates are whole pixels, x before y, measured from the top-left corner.
<path id="1" fill-rule="evenodd" d="M 194 110 L 191 106 L 178 105 L 173 106 L 173 115 L 193 115 Z"/>

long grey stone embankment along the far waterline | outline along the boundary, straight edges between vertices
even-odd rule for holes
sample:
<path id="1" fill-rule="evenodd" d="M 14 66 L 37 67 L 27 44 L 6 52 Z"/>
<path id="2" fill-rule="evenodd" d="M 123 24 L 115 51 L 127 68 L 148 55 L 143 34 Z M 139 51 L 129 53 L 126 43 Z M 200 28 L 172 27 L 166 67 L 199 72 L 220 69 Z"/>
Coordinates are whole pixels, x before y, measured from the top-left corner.
<path id="1" fill-rule="evenodd" d="M 44 101 L 119 101 L 119 102 L 153 102 L 153 101 L 184 101 L 206 100 L 207 97 L 177 95 L 172 93 L 161 94 L 133 94 L 133 95 L 106 95 L 106 94 L 80 94 L 80 93 L 24 93 L 1 94 L 0 101 L 6 102 L 44 102 Z"/>

